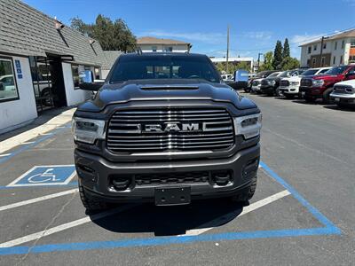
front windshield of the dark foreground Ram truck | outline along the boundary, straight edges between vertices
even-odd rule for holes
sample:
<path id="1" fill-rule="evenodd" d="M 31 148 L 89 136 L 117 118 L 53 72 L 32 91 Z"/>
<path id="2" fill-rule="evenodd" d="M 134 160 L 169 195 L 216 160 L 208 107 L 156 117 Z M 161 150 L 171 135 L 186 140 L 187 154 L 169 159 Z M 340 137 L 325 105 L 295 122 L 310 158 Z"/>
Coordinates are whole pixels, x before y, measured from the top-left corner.
<path id="1" fill-rule="evenodd" d="M 203 79 L 220 82 L 207 57 L 189 55 L 122 56 L 114 66 L 111 83 L 143 79 Z"/>

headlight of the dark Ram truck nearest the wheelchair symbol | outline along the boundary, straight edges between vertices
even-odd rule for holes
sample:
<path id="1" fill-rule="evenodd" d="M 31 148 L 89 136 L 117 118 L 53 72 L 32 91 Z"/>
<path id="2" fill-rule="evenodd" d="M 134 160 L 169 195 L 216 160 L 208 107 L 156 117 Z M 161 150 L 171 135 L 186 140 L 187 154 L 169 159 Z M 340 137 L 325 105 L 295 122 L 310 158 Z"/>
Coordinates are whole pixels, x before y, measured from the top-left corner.
<path id="1" fill-rule="evenodd" d="M 105 139 L 106 121 L 73 117 L 72 132 L 75 141 L 94 144 L 97 139 Z"/>

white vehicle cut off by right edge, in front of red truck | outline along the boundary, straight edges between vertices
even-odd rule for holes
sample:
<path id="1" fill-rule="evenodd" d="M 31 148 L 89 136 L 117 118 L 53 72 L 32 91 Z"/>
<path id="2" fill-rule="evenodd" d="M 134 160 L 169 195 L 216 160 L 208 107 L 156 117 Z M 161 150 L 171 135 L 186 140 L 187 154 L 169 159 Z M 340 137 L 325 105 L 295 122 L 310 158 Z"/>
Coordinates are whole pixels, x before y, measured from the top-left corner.
<path id="1" fill-rule="evenodd" d="M 330 98 L 337 106 L 355 106 L 355 80 L 335 83 Z"/>

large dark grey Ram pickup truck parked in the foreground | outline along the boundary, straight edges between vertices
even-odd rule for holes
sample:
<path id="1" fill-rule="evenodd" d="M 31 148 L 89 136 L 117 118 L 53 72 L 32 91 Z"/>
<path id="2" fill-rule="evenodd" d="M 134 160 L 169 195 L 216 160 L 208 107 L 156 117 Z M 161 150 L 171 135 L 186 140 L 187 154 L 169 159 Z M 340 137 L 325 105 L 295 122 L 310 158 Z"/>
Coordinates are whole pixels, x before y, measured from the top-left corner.
<path id="1" fill-rule="evenodd" d="M 253 196 L 262 116 L 222 82 L 207 56 L 124 54 L 104 84 L 81 88 L 99 89 L 73 117 L 75 168 L 89 211 Z"/>

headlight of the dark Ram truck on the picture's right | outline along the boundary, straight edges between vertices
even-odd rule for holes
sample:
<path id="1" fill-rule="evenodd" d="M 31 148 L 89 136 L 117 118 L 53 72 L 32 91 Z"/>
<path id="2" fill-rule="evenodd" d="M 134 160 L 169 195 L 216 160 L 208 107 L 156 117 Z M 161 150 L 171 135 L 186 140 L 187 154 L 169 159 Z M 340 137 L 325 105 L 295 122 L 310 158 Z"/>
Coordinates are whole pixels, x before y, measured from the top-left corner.
<path id="1" fill-rule="evenodd" d="M 234 117 L 235 135 L 243 135 L 245 139 L 259 136 L 262 118 L 261 113 Z"/>

